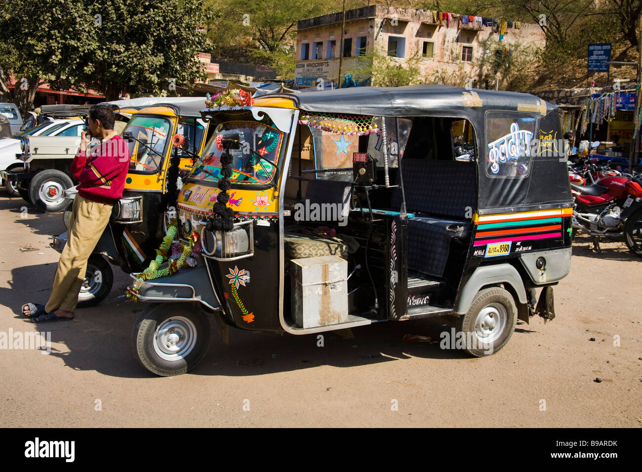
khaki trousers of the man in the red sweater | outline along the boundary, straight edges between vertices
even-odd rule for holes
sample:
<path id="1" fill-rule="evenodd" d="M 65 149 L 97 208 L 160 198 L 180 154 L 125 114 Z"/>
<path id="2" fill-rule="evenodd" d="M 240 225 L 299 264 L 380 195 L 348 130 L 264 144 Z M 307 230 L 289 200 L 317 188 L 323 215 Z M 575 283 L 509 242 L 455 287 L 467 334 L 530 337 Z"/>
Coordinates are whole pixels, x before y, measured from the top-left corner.
<path id="1" fill-rule="evenodd" d="M 53 290 L 45 306 L 46 313 L 75 310 L 78 293 L 85 279 L 87 259 L 105 231 L 113 206 L 92 202 L 76 194 L 69 218 L 67 244 L 60 254 Z"/>

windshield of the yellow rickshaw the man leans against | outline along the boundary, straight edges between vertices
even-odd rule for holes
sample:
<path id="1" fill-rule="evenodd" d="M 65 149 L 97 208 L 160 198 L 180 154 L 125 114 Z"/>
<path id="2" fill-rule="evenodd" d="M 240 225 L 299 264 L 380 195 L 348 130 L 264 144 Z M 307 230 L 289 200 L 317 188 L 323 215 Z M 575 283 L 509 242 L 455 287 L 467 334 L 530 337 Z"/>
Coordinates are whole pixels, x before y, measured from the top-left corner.
<path id="1" fill-rule="evenodd" d="M 171 130 L 171 121 L 156 116 L 134 116 L 123 130 L 131 132 L 128 141 L 131 161 L 130 172 L 152 173 L 162 166 Z"/>

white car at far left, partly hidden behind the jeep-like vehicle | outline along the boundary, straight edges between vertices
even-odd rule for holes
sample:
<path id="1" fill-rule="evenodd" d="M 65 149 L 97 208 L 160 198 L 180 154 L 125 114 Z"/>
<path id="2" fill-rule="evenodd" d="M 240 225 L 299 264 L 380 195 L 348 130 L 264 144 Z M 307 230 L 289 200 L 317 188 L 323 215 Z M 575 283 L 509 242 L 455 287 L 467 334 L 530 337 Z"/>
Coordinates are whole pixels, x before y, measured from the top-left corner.
<path id="1" fill-rule="evenodd" d="M 24 168 L 24 162 L 17 156 L 22 154 L 21 137 L 26 136 L 67 136 L 79 137 L 85 127 L 82 119 L 51 119 L 41 123 L 35 128 L 19 133 L 15 138 L 5 137 L 0 139 L 0 170 L 19 171 Z M 10 197 L 19 195 L 19 191 L 9 180 L 0 184 L 8 191 Z"/>

